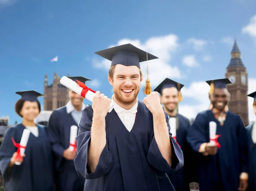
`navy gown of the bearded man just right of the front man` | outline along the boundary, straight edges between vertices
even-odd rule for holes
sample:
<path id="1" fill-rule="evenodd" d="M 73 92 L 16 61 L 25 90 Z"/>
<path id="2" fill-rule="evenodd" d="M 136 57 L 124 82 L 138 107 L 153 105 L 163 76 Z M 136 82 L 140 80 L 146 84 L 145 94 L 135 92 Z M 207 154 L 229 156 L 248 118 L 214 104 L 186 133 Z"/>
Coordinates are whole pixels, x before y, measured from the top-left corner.
<path id="1" fill-rule="evenodd" d="M 188 130 L 190 129 L 189 119 L 177 114 L 177 142 L 183 151 L 184 167 L 179 173 L 169 174 L 169 178 L 175 188 L 175 191 L 190 191 L 189 182 L 197 182 L 197 153 L 195 153 L 186 140 Z M 171 127 L 172 128 L 172 127 Z"/>

